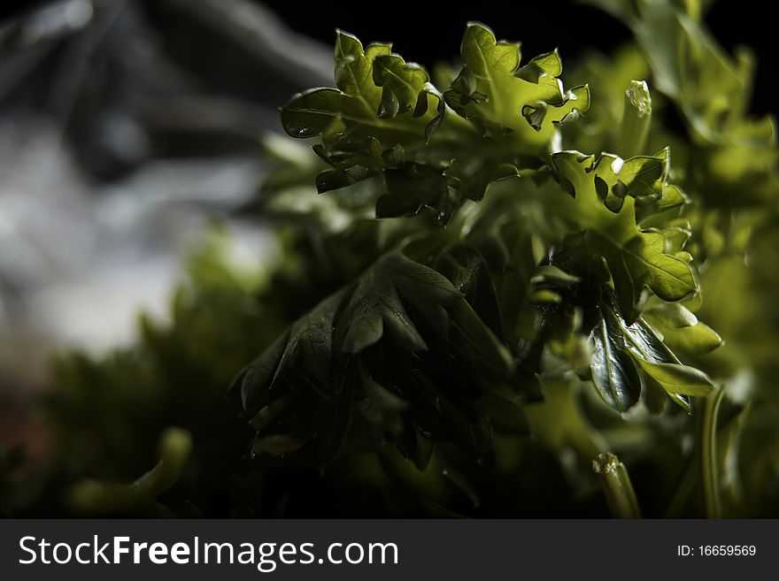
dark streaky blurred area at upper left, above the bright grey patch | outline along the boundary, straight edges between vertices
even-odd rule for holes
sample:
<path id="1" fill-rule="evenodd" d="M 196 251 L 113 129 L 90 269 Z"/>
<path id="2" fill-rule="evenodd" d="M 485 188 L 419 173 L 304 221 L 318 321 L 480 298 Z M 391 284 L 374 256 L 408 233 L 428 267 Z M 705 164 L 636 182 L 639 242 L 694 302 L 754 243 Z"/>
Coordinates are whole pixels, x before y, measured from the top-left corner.
<path id="1" fill-rule="evenodd" d="M 53 118 L 100 180 L 158 157 L 257 155 L 279 105 L 332 84 L 331 51 L 249 0 L 55 0 L 0 29 L 0 117 Z"/>

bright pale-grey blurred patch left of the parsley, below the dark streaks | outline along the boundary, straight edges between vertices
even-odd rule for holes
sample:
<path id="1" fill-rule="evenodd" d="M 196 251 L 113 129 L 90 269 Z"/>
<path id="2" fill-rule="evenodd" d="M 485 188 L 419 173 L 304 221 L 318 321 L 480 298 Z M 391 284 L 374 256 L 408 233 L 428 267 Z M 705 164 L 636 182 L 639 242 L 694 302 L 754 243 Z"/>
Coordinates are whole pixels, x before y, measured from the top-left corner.
<path id="1" fill-rule="evenodd" d="M 15 337 L 39 337 L 39 363 L 64 346 L 134 340 L 138 313 L 166 315 L 182 257 L 262 172 L 256 157 L 168 160 L 96 186 L 50 126 L 18 121 L 0 136 L 0 367 L 34 342 Z M 266 250 L 257 226 L 240 231 Z"/>

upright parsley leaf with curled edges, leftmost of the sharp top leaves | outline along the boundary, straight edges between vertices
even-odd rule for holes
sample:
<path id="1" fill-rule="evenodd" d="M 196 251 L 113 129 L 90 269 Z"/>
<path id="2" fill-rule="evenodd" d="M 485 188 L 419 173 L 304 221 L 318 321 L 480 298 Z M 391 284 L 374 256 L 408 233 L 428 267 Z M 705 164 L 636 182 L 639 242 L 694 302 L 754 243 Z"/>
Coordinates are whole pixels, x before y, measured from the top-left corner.
<path id="1" fill-rule="evenodd" d="M 314 88 L 282 107 L 282 126 L 293 137 L 322 137 L 316 151 L 333 166 L 320 174 L 320 192 L 382 172 L 402 151 L 429 141 L 443 122 L 443 96 L 420 66 L 391 53 L 390 44 L 364 50 L 351 34 L 336 38 L 337 88 Z M 428 107 L 430 98 L 437 107 Z M 385 152 L 382 155 L 382 150 Z"/>

